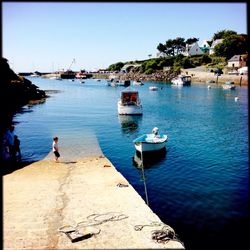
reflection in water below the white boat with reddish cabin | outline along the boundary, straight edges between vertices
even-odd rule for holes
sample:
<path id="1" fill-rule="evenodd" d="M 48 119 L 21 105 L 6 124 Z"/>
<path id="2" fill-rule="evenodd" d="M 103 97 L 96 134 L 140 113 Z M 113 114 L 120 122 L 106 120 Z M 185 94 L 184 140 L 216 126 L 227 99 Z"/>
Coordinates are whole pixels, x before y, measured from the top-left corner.
<path id="1" fill-rule="evenodd" d="M 118 115 L 119 122 L 121 124 L 122 131 L 125 134 L 135 132 L 142 120 L 142 116 L 135 115 Z"/>

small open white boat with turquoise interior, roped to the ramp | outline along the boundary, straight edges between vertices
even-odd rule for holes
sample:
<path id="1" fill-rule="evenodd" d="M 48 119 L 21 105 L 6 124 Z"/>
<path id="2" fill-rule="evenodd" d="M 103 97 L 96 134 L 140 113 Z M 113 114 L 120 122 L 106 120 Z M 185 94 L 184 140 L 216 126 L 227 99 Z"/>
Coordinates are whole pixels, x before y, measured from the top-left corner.
<path id="1" fill-rule="evenodd" d="M 143 153 L 163 149 L 166 146 L 167 140 L 167 135 L 158 134 L 158 128 L 154 128 L 151 134 L 144 134 L 133 140 L 133 143 L 135 145 L 135 149 Z"/>

